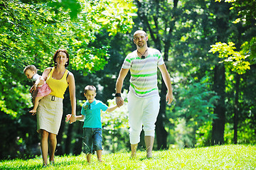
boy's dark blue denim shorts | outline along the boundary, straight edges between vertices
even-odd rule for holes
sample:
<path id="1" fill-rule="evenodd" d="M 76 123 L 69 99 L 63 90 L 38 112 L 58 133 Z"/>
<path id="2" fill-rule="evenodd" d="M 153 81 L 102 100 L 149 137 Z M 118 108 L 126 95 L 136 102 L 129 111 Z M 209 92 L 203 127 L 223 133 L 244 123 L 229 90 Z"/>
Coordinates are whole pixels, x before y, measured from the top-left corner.
<path id="1" fill-rule="evenodd" d="M 83 128 L 83 152 L 92 154 L 93 151 L 102 150 L 102 129 Z"/>

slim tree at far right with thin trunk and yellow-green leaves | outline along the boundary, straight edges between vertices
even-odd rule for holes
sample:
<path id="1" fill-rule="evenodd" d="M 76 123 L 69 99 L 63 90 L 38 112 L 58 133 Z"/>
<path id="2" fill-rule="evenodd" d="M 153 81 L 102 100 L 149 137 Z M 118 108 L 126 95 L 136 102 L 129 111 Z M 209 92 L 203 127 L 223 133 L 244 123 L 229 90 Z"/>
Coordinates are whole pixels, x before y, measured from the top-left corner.
<path id="1" fill-rule="evenodd" d="M 216 0 L 217 1 L 217 0 Z M 221 0 L 218 0 L 221 2 Z M 211 45 L 209 52 L 218 52 L 218 57 L 223 58 L 223 64 L 227 69 L 238 74 L 245 74 L 247 69 L 250 69 L 251 64 L 255 64 L 255 35 L 251 33 L 252 28 L 255 27 L 255 1 L 225 1 L 232 4 L 230 7 L 231 12 L 238 13 L 238 18 L 233 21 L 238 26 L 237 44 L 229 41 L 228 45 L 224 42 L 216 42 Z M 235 51 L 235 46 L 238 46 L 238 51 Z M 253 66 L 252 66 L 253 67 Z M 240 112 L 240 75 L 235 76 L 235 103 L 234 103 L 234 143 L 238 142 L 238 113 Z"/>

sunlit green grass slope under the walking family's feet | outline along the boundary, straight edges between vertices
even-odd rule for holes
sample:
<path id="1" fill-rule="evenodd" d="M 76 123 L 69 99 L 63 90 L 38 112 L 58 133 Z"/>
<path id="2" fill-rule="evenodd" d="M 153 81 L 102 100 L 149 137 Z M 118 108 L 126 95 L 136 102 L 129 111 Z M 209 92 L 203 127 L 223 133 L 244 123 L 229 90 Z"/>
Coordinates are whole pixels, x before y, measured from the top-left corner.
<path id="1" fill-rule="evenodd" d="M 256 169 L 256 146 L 223 145 L 194 149 L 155 151 L 152 159 L 138 152 L 136 159 L 130 153 L 105 154 L 104 163 L 92 155 L 87 164 L 85 154 L 78 157 L 55 157 L 55 164 L 44 169 Z M 0 169 L 41 169 L 41 157 L 28 160 L 0 162 Z"/>

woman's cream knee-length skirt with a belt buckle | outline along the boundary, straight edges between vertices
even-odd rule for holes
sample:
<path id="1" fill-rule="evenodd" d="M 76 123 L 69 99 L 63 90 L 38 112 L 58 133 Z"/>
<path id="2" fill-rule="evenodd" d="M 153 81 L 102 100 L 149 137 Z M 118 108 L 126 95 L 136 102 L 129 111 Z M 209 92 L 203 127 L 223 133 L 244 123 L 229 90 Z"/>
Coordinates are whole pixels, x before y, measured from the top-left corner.
<path id="1" fill-rule="evenodd" d="M 36 111 L 37 132 L 46 130 L 58 135 L 63 116 L 63 98 L 48 95 L 39 101 Z"/>

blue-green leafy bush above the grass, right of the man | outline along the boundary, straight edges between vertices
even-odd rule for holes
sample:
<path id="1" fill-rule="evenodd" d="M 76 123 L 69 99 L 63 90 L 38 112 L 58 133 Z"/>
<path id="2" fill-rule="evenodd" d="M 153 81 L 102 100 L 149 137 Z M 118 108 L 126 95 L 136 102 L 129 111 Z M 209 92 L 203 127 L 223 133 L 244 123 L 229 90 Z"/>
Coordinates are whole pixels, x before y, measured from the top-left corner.
<path id="1" fill-rule="evenodd" d="M 174 92 L 176 101 L 173 109 L 167 112 L 175 130 L 172 132 L 178 147 L 206 146 L 210 129 L 206 125 L 216 118 L 213 108 L 218 101 L 214 91 L 210 91 L 207 79 L 201 82 L 191 80 L 183 88 Z"/>

